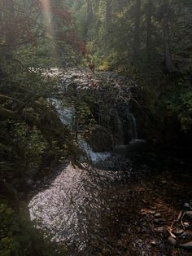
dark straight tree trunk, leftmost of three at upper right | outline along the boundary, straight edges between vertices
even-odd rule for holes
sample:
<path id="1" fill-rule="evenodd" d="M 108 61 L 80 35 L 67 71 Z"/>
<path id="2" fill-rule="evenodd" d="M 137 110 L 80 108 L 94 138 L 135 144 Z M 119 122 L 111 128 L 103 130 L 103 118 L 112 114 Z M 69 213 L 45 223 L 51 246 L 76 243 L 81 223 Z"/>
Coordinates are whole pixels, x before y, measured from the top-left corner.
<path id="1" fill-rule="evenodd" d="M 136 0 L 135 3 L 135 32 L 133 41 L 133 56 L 137 62 L 138 51 L 140 49 L 140 25 L 141 25 L 141 0 Z"/>

